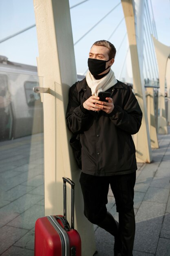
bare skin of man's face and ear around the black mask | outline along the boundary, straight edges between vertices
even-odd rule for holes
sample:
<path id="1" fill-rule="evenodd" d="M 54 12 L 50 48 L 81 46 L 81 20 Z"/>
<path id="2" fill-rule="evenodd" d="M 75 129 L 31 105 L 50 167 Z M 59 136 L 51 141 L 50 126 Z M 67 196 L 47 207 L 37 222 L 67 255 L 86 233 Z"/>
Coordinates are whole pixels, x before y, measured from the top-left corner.
<path id="1" fill-rule="evenodd" d="M 109 60 L 108 54 L 109 54 L 109 49 L 107 47 L 93 45 L 89 52 L 89 58 L 95 58 L 95 59 L 102 60 L 102 61 L 108 61 Z M 108 66 L 111 67 L 111 65 L 113 63 L 114 63 L 114 58 L 112 58 L 110 61 L 106 62 L 106 68 Z M 104 72 L 102 72 L 99 75 L 106 74 L 107 72 L 108 72 L 108 70 L 105 70 Z"/>

